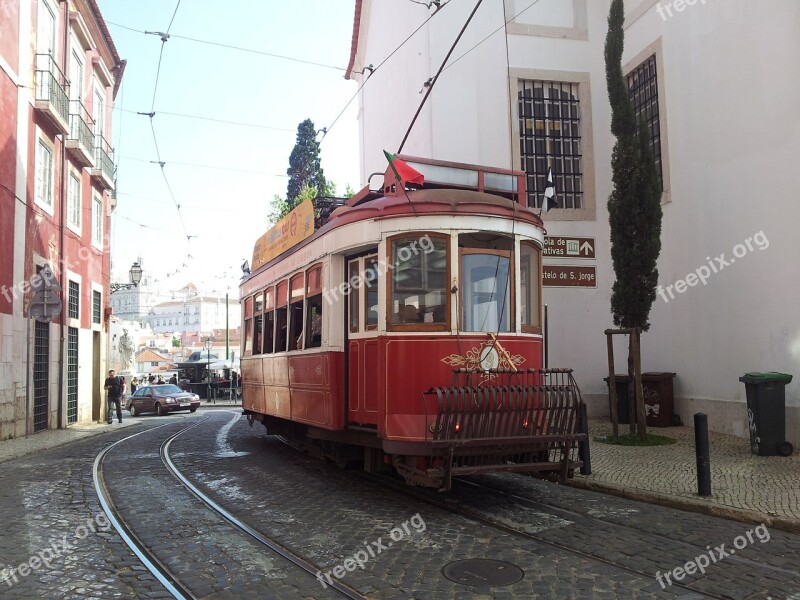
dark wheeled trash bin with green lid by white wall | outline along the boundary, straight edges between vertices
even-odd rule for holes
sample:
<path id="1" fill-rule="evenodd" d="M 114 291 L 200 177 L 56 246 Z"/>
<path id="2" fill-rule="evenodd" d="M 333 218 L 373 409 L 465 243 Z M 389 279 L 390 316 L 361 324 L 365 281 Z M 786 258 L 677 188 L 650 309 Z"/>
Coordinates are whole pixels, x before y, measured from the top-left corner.
<path id="1" fill-rule="evenodd" d="M 789 456 L 794 447 L 786 441 L 786 373 L 745 373 L 739 377 L 747 392 L 750 450 L 758 456 Z"/>

